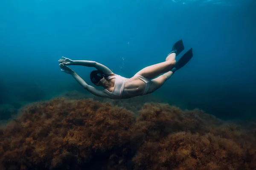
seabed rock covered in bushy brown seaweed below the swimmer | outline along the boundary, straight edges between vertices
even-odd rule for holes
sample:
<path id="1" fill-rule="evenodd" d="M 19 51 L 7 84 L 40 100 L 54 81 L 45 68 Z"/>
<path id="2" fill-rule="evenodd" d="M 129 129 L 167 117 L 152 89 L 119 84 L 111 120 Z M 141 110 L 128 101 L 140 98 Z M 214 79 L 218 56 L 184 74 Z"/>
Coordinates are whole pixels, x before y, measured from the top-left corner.
<path id="1" fill-rule="evenodd" d="M 1 170 L 251 170 L 255 162 L 255 134 L 242 125 L 160 103 L 135 116 L 110 102 L 53 99 L 26 105 L 0 130 Z"/>

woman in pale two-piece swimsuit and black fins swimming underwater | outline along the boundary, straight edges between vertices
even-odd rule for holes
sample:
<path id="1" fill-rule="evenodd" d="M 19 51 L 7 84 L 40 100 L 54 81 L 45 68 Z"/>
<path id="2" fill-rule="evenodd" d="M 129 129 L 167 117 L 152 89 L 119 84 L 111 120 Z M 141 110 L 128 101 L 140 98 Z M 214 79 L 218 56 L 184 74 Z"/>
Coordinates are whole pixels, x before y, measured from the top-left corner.
<path id="1" fill-rule="evenodd" d="M 128 99 L 135 96 L 151 94 L 160 88 L 175 71 L 186 65 L 193 56 L 192 48 L 177 62 L 175 59 L 183 50 L 183 41 L 179 40 L 173 45 L 171 53 L 166 57 L 166 61 L 143 68 L 131 78 L 114 74 L 105 65 L 95 61 L 71 60 L 62 57 L 63 59 L 59 59 L 58 62 L 61 63 L 61 71 L 71 74 L 90 93 L 110 99 Z M 94 85 L 102 86 L 104 90 L 101 91 L 88 85 L 75 71 L 67 67 L 67 65 L 83 65 L 96 68 L 97 70 L 90 73 L 90 80 Z"/>

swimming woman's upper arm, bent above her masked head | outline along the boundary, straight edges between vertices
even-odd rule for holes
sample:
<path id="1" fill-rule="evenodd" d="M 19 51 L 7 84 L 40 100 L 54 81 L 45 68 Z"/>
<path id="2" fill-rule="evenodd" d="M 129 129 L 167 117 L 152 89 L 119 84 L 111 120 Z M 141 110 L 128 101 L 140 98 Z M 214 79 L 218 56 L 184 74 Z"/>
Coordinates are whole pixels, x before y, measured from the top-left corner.
<path id="1" fill-rule="evenodd" d="M 65 57 L 64 59 L 60 59 L 58 62 L 61 62 L 63 65 L 83 65 L 86 67 L 95 67 L 97 70 L 103 71 L 106 75 L 111 75 L 113 72 L 106 67 L 105 65 L 100 64 L 99 62 L 95 61 L 88 61 L 88 60 L 71 60 Z"/>

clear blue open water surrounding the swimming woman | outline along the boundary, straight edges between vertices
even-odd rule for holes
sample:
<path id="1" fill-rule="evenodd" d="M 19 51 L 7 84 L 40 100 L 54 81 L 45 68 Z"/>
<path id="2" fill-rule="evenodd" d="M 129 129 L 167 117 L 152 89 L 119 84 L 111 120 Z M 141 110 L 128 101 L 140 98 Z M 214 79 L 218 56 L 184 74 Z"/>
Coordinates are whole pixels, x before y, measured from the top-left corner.
<path id="1" fill-rule="evenodd" d="M 194 57 L 154 95 L 222 119 L 255 118 L 255 7 L 253 0 L 1 0 L 0 102 L 83 90 L 60 71 L 62 56 L 132 77 L 183 39 Z M 71 68 L 92 85 L 92 68 Z"/>

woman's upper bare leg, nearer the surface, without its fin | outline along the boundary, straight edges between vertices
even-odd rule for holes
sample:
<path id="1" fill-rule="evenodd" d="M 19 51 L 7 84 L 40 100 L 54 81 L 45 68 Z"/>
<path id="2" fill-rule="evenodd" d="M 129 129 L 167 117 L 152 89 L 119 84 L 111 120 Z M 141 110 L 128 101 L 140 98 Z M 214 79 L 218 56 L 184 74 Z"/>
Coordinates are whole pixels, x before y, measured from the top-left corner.
<path id="1" fill-rule="evenodd" d="M 146 68 L 143 68 L 141 71 L 137 72 L 136 74 L 139 74 L 148 79 L 153 79 L 159 76 L 160 74 L 170 71 L 175 66 L 175 63 L 176 63 L 175 57 L 176 57 L 175 53 L 169 54 L 166 57 L 165 62 L 160 62 L 155 65 L 150 65 Z"/>

